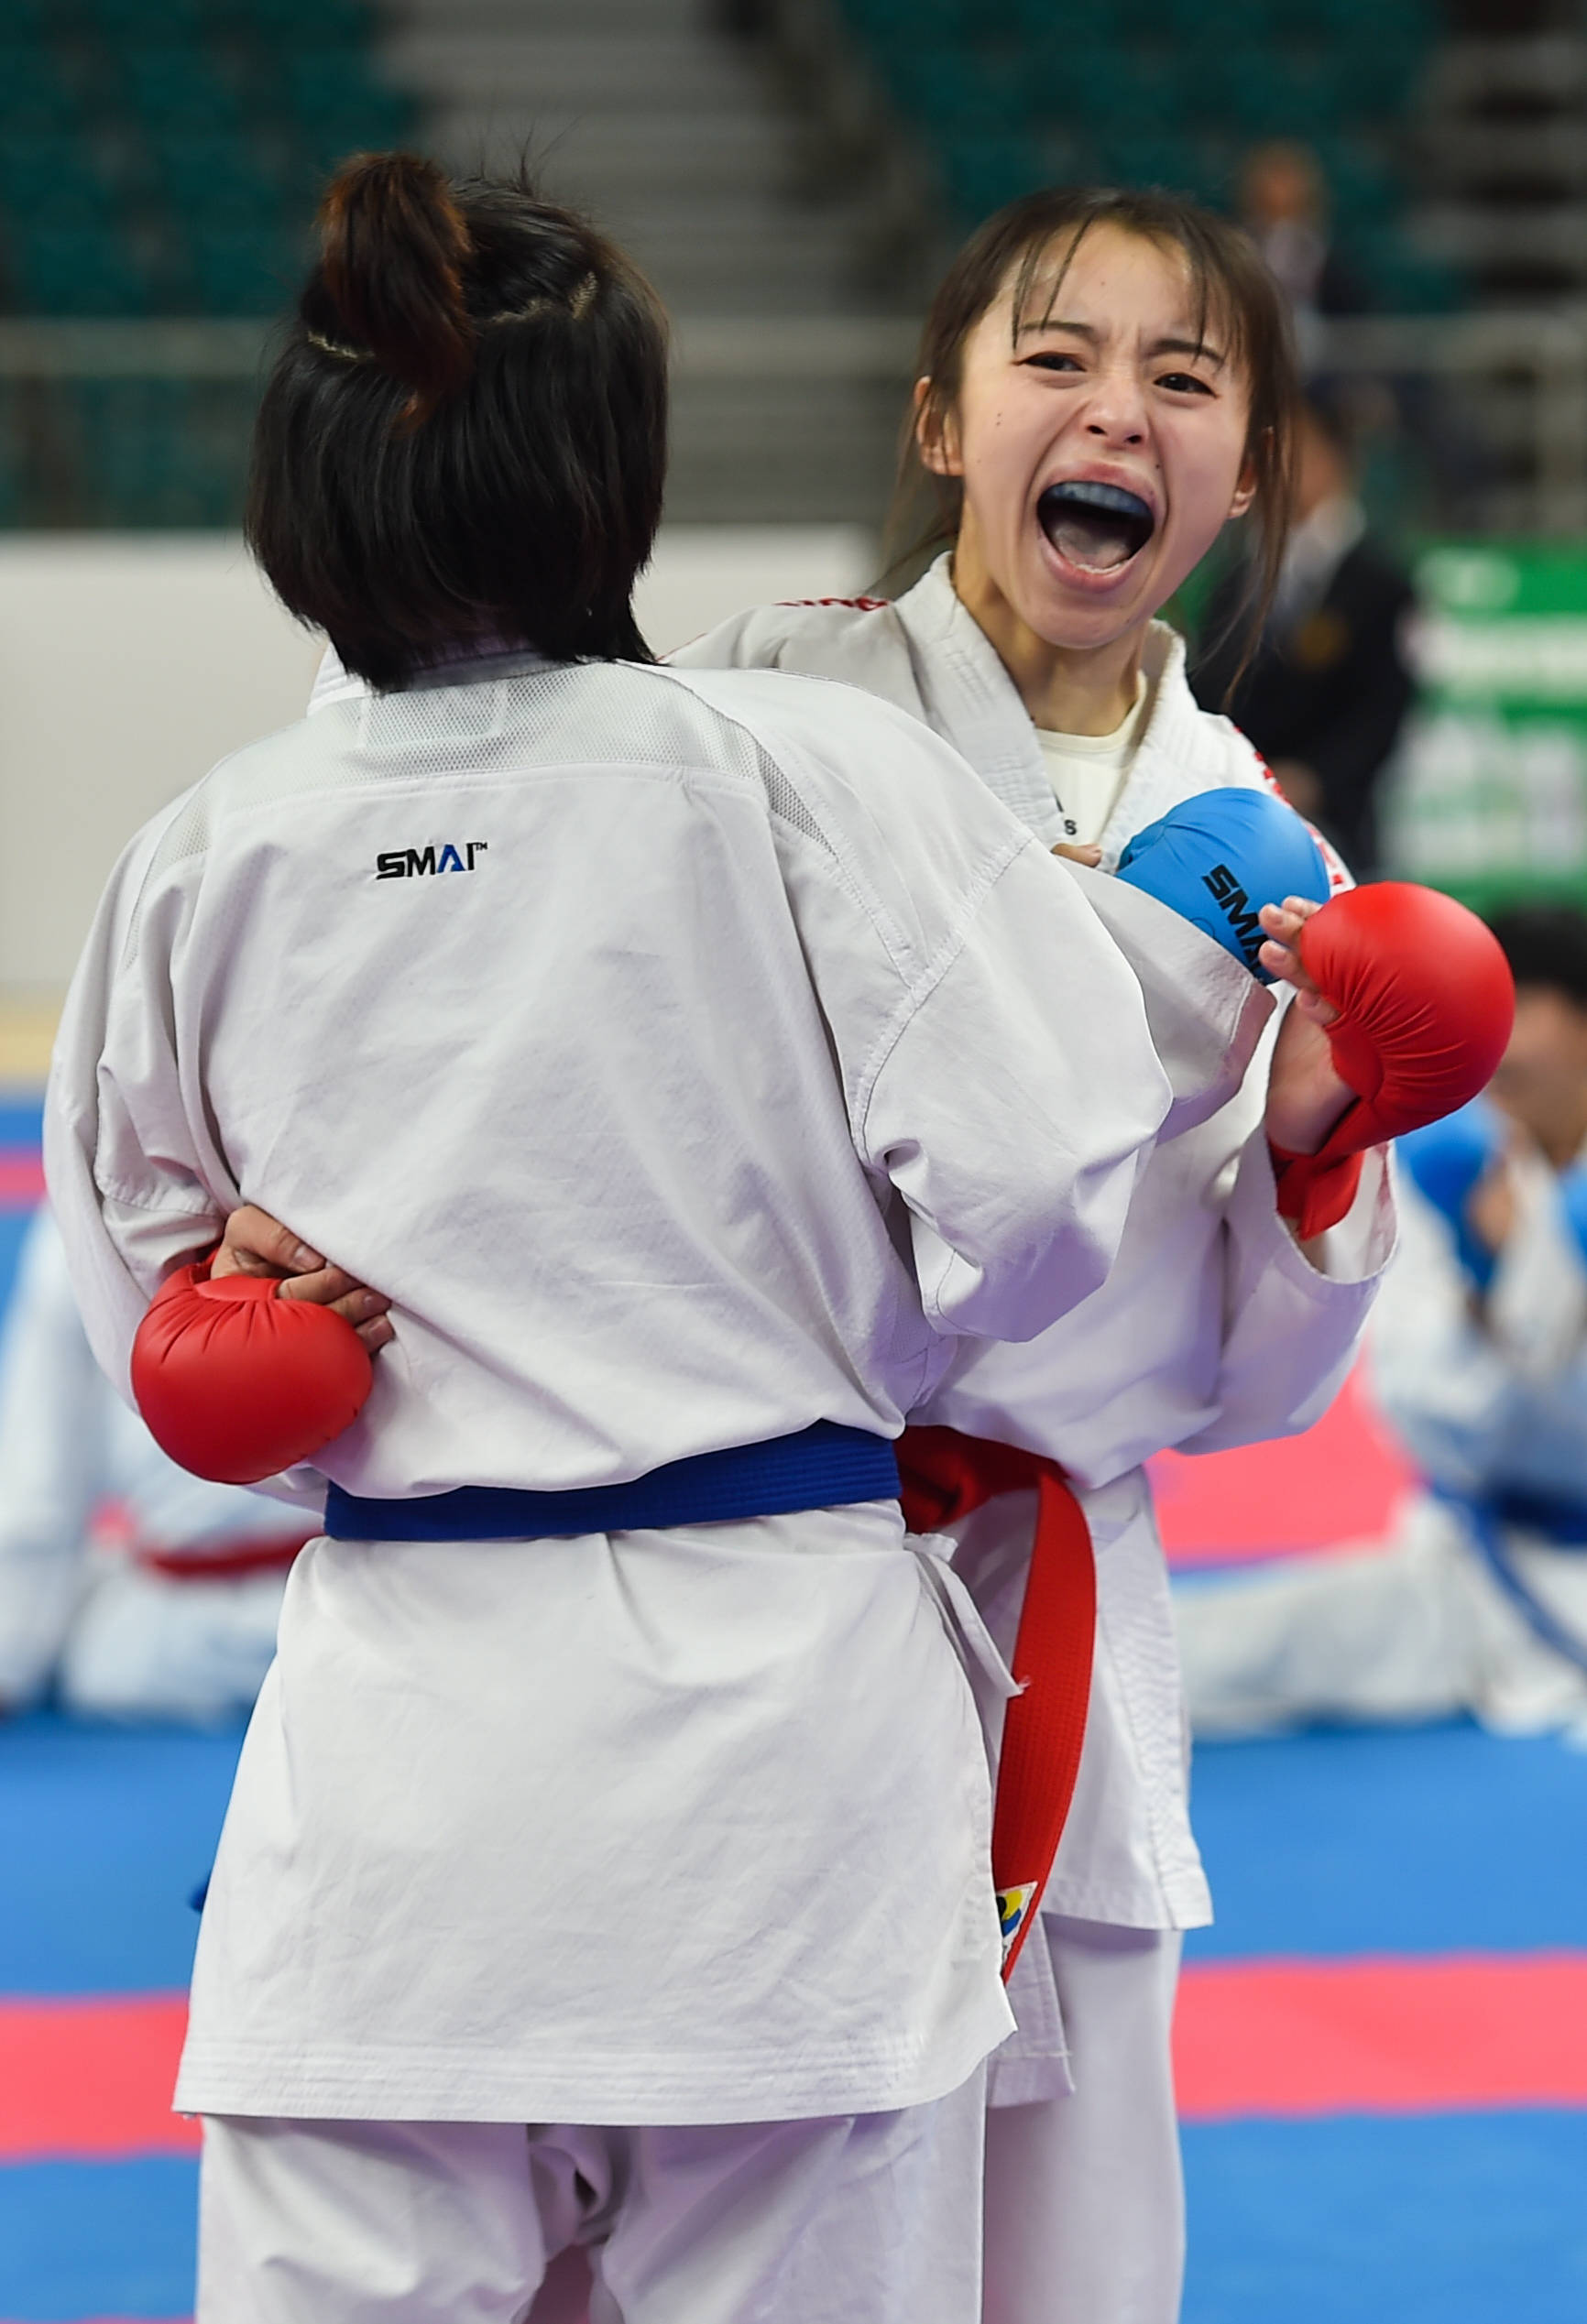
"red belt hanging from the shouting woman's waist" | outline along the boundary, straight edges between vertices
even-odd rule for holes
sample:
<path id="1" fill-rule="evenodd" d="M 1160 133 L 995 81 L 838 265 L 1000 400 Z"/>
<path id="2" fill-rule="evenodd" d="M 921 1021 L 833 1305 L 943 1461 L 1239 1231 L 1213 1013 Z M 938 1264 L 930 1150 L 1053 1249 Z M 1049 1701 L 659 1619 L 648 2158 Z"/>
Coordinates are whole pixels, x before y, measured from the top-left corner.
<path id="1" fill-rule="evenodd" d="M 1018 1446 L 904 1429 L 897 1443 L 904 1522 L 934 1534 L 999 1492 L 1036 1490 L 1013 1676 L 992 1810 L 992 1885 L 1004 1929 L 1004 1978 L 1032 1927 L 1064 1836 L 1085 1743 L 1097 1643 L 1097 1559 L 1085 1513 L 1057 1462 Z"/>

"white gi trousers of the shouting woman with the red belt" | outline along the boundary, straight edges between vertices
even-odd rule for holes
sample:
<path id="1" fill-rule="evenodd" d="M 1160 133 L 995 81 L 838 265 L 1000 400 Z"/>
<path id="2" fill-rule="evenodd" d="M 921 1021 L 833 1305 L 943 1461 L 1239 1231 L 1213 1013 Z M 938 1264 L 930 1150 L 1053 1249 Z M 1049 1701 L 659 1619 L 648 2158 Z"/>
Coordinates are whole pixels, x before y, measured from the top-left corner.
<path id="1" fill-rule="evenodd" d="M 988 2113 L 985 2324 L 1173 2324 L 1178 1929 L 1041 1915 L 1073 2089 Z"/>

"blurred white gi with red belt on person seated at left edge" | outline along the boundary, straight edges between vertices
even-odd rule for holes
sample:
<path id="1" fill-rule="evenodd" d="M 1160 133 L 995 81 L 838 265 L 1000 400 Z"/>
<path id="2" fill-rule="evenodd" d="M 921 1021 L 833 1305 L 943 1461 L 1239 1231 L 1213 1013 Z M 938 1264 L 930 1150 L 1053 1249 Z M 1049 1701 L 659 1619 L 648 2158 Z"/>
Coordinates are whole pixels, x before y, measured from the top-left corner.
<path id="1" fill-rule="evenodd" d="M 98 1550 L 105 1504 L 119 1527 Z M 42 1206 L 0 1346 L 0 1703 L 21 1708 L 53 1680 L 70 1710 L 95 1717 L 249 1710 L 277 1650 L 286 1557 L 307 1529 L 279 1501 L 207 1485 L 160 1452 L 93 1360 Z M 260 1564 L 272 1552 L 274 1571 Z"/>

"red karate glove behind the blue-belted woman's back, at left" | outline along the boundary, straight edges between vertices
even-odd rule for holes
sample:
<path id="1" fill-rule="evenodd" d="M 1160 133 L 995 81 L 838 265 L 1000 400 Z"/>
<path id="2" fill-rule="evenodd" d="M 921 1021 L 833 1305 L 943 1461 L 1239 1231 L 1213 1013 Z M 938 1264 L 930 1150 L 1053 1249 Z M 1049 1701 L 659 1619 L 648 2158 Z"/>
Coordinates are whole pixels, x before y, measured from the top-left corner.
<path id="1" fill-rule="evenodd" d="M 132 1394 L 163 1452 L 216 1485 L 258 1485 L 358 1418 L 374 1373 L 351 1322 L 277 1281 L 179 1267 L 137 1327 Z"/>

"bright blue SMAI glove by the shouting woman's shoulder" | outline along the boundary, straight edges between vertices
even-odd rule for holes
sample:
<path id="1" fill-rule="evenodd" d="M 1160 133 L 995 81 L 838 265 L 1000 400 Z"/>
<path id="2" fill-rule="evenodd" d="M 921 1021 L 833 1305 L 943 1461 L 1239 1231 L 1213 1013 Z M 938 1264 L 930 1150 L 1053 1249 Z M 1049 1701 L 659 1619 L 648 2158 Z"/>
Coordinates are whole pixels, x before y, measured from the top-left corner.
<path id="1" fill-rule="evenodd" d="M 1287 895 L 1329 899 L 1322 851 L 1301 818 L 1269 790 L 1204 790 L 1171 806 L 1129 841 L 1118 876 L 1183 913 L 1241 967 L 1273 978 L 1257 953 L 1266 941 L 1257 913 Z"/>

